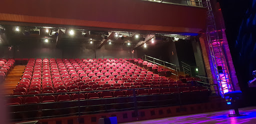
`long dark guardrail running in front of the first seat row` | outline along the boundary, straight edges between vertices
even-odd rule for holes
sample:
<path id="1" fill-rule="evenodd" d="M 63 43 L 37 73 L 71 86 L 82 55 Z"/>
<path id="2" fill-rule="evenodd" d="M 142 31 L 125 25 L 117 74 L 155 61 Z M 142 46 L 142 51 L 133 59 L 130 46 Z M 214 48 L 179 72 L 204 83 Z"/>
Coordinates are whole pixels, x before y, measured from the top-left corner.
<path id="1" fill-rule="evenodd" d="M 193 84 L 195 85 L 195 84 Z M 196 86 L 196 85 L 195 85 Z M 149 89 L 170 89 L 178 92 L 152 94 L 152 95 L 136 95 L 137 90 Z M 124 90 L 105 90 L 105 91 L 82 91 L 82 92 L 67 92 L 67 93 L 53 93 L 53 94 L 38 94 L 38 95 L 19 95 L 6 97 L 31 97 L 31 96 L 47 96 L 47 95 L 61 95 L 61 94 L 85 94 L 94 92 L 114 92 L 114 91 L 132 91 L 131 96 L 116 97 L 116 98 L 100 98 L 92 100 L 84 100 L 78 97 L 77 101 L 63 101 L 51 103 L 38 104 L 23 104 L 8 106 L 12 119 L 10 121 L 24 121 L 37 120 L 66 116 L 81 116 L 86 114 L 109 113 L 116 111 L 134 111 L 138 114 L 139 109 L 159 108 L 167 106 L 182 106 L 187 104 L 204 103 L 208 101 L 209 94 L 200 92 L 179 92 L 180 87 L 157 87 L 157 88 L 139 88 L 139 89 L 124 89 Z M 79 96 L 79 95 L 78 95 Z M 198 97 L 200 96 L 200 97 Z M 39 113 L 38 113 L 39 112 Z"/>

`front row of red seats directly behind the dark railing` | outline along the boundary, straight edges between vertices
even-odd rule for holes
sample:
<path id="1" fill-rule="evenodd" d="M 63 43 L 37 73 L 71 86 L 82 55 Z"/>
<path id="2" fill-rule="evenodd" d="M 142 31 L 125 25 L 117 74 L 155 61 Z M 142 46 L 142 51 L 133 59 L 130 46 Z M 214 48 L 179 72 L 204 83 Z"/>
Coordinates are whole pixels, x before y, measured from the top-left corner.
<path id="1" fill-rule="evenodd" d="M 79 90 L 73 90 L 73 92 L 78 92 Z M 84 91 L 93 91 L 87 88 Z M 188 93 L 188 92 L 204 92 L 207 90 L 203 87 L 180 87 L 180 88 L 160 88 L 160 89 L 138 89 L 135 90 L 135 94 L 138 96 L 142 95 L 160 95 L 160 94 L 178 94 L 178 93 Z M 34 104 L 34 103 L 48 103 L 48 102 L 61 102 L 70 100 L 91 100 L 91 99 L 104 99 L 104 98 L 118 98 L 118 97 L 130 97 L 133 96 L 132 90 L 123 91 L 103 91 L 103 89 L 98 88 L 95 92 L 90 93 L 80 93 L 80 94 L 61 94 L 61 95 L 44 95 L 44 96 L 32 96 L 32 97 L 13 97 L 9 99 L 9 105 L 19 105 L 19 104 Z"/>

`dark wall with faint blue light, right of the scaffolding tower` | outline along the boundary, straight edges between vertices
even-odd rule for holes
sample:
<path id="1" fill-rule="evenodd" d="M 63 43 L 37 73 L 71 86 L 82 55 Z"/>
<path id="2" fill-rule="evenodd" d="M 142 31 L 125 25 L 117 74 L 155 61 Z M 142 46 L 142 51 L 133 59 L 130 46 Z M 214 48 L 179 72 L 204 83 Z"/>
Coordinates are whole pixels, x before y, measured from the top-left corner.
<path id="1" fill-rule="evenodd" d="M 251 105 L 256 88 L 248 88 L 256 70 L 256 0 L 219 0 L 225 21 L 225 33 L 239 87 Z"/>

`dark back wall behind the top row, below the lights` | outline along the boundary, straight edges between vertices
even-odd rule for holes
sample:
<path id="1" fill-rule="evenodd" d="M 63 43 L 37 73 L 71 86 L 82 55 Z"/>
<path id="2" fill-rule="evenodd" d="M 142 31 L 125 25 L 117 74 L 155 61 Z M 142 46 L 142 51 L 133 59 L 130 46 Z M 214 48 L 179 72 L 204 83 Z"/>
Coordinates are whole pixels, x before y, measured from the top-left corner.
<path id="1" fill-rule="evenodd" d="M 14 58 L 131 58 L 130 47 L 114 44 L 95 47 L 96 44 L 74 43 L 56 48 L 55 42 L 22 42 L 12 51 Z"/>

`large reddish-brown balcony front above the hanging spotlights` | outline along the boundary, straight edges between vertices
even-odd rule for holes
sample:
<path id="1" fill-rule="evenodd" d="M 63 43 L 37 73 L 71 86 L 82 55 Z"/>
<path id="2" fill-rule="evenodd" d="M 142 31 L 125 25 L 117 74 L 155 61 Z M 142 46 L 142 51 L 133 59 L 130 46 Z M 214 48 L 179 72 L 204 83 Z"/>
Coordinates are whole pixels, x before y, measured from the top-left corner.
<path id="1" fill-rule="evenodd" d="M 0 20 L 197 33 L 205 10 L 142 0 L 1 0 Z"/>

